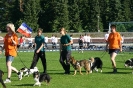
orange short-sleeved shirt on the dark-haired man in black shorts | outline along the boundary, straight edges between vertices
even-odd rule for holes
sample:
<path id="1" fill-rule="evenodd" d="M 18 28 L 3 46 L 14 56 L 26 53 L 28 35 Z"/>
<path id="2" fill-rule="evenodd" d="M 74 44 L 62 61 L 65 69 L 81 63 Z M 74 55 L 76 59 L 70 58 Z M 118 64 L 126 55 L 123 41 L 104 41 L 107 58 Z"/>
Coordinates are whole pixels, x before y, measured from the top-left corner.
<path id="1" fill-rule="evenodd" d="M 120 49 L 121 36 L 118 32 L 110 33 L 107 41 L 109 49 Z"/>

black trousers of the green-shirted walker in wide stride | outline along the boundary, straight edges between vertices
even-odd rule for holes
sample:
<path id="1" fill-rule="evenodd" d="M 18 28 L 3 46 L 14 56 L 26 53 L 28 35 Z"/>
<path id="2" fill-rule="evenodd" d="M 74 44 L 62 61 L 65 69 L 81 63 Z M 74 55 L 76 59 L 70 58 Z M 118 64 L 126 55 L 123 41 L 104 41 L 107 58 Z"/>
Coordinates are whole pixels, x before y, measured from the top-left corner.
<path id="1" fill-rule="evenodd" d="M 43 65 L 43 73 L 46 73 L 47 66 L 46 66 L 45 51 L 40 51 L 39 53 L 36 53 L 36 51 L 34 52 L 34 57 L 30 69 L 33 69 L 36 66 L 39 58 L 41 58 L 41 62 Z"/>

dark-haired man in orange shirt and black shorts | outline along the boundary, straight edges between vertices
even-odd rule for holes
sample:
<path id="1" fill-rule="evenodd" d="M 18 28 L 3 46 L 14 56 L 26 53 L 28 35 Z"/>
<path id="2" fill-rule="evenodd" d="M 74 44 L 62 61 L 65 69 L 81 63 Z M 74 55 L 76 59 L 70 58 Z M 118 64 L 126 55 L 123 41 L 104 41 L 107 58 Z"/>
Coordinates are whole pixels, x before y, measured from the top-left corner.
<path id="1" fill-rule="evenodd" d="M 122 52 L 121 35 L 116 31 L 116 25 L 111 25 L 111 33 L 107 39 L 106 49 L 109 47 L 110 59 L 112 62 L 113 73 L 117 73 L 115 57 L 118 52 Z M 108 46 L 109 45 L 109 46 Z"/>

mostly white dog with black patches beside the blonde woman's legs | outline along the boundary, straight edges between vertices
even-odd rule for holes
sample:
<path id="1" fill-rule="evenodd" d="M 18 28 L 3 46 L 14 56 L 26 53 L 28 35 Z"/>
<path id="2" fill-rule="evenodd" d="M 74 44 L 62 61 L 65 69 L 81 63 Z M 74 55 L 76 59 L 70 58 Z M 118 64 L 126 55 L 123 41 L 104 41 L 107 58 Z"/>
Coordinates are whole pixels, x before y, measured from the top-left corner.
<path id="1" fill-rule="evenodd" d="M 23 76 L 24 77 L 25 76 L 29 77 L 30 74 L 33 74 L 34 72 L 37 72 L 37 71 L 39 71 L 37 67 L 34 67 L 34 69 L 28 69 L 26 67 L 21 68 L 20 71 L 19 71 L 19 75 L 18 75 L 19 76 L 19 80 L 22 80 Z"/>

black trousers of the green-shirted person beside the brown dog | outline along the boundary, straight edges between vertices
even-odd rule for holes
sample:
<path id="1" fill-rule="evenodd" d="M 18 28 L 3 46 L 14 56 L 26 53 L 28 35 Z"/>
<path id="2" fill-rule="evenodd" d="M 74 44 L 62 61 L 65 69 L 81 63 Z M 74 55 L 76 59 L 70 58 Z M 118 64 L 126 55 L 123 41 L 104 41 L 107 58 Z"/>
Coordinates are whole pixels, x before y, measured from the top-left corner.
<path id="1" fill-rule="evenodd" d="M 61 52 L 59 60 L 63 69 L 65 70 L 65 73 L 68 74 L 70 73 L 70 63 L 69 63 L 70 56 L 71 56 L 71 51 L 64 50 Z"/>

